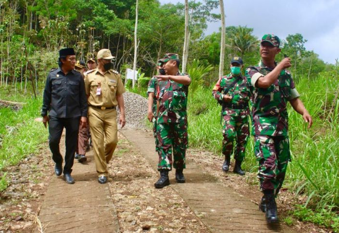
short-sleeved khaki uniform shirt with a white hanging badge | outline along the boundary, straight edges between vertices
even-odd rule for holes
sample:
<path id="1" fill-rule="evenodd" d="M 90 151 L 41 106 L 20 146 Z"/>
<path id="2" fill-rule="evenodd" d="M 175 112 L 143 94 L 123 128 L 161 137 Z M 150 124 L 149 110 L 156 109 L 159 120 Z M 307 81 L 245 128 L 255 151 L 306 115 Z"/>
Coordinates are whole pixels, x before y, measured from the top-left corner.
<path id="1" fill-rule="evenodd" d="M 100 88 L 100 92 L 98 89 Z M 118 105 L 116 96 L 125 92 L 123 81 L 115 70 L 108 70 L 102 75 L 98 68 L 85 76 L 86 94 L 89 96 L 89 106 L 104 106 L 110 108 Z"/>

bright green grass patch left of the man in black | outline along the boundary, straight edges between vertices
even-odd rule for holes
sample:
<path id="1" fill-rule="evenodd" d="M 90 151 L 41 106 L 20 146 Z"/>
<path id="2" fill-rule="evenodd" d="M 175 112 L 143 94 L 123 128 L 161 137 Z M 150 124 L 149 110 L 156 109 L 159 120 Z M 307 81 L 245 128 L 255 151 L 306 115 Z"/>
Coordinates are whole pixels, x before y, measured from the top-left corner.
<path id="1" fill-rule="evenodd" d="M 12 90 L 12 91 L 11 91 Z M 41 122 L 34 119 L 40 116 L 42 97 L 32 98 L 31 93 L 13 92 L 13 87 L 0 87 L 1 99 L 25 103 L 23 108 L 14 111 L 0 109 L 0 191 L 9 184 L 6 180 L 6 167 L 16 165 L 27 155 L 38 153 L 47 140 L 48 131 Z"/>

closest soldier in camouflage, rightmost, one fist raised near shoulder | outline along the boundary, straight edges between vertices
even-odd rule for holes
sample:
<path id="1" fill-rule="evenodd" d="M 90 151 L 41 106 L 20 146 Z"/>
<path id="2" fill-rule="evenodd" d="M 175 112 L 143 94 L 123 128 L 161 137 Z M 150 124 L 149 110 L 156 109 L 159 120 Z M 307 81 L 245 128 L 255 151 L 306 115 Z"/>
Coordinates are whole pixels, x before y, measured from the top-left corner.
<path id="1" fill-rule="evenodd" d="M 291 67 L 291 59 L 275 61 L 281 50 L 279 46 L 280 39 L 276 35 L 265 34 L 260 46 L 261 62 L 246 70 L 253 91 L 254 153 L 259 161 L 258 178 L 264 194 L 259 208 L 266 212 L 268 223 L 278 221 L 275 198 L 284 182 L 288 161 L 291 161 L 287 102 L 303 116 L 308 128 L 312 125 L 312 117 L 299 99 L 290 71 L 286 70 Z"/>

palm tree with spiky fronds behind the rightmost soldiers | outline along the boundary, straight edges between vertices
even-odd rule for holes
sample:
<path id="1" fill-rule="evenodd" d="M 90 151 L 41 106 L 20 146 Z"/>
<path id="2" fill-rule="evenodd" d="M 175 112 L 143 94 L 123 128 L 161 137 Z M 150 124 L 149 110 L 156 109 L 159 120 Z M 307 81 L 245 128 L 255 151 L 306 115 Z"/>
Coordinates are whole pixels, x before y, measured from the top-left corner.
<path id="1" fill-rule="evenodd" d="M 230 43 L 226 44 L 227 47 L 231 47 L 235 52 L 240 52 L 241 57 L 250 51 L 253 51 L 258 45 L 258 40 L 252 35 L 253 29 L 245 27 L 237 27 L 234 31 L 231 31 Z"/>

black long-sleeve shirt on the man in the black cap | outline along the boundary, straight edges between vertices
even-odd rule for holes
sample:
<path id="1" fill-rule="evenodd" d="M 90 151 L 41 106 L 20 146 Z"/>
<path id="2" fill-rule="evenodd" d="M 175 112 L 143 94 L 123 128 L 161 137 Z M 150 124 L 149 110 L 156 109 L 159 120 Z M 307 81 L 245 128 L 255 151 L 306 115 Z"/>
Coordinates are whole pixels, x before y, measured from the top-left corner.
<path id="1" fill-rule="evenodd" d="M 87 117 L 84 79 L 75 70 L 65 75 L 60 68 L 49 72 L 41 115 L 59 118 Z"/>

